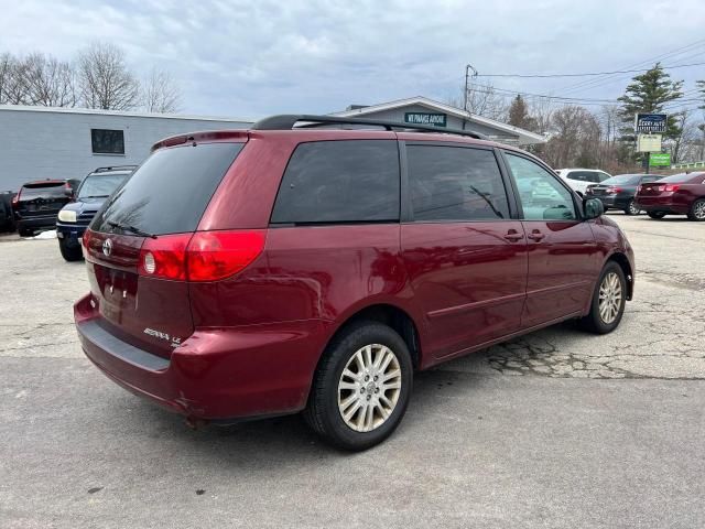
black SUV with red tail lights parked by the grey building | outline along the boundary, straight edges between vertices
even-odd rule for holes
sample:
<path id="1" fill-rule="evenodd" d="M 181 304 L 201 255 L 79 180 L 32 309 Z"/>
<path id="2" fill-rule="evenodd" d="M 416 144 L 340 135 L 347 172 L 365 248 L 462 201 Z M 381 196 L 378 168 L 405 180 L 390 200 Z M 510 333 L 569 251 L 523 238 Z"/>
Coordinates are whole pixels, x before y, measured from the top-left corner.
<path id="1" fill-rule="evenodd" d="M 66 180 L 28 182 L 12 198 L 12 210 L 22 237 L 39 229 L 53 229 L 56 216 L 72 196 L 72 184 Z"/>

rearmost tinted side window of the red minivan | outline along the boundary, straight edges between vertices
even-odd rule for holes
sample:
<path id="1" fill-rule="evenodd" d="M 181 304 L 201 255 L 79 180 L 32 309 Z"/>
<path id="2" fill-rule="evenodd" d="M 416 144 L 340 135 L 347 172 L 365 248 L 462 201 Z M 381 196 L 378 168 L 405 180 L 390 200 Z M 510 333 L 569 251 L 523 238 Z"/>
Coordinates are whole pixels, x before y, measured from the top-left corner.
<path id="1" fill-rule="evenodd" d="M 282 177 L 271 222 L 399 220 L 399 180 L 394 140 L 302 143 Z"/>

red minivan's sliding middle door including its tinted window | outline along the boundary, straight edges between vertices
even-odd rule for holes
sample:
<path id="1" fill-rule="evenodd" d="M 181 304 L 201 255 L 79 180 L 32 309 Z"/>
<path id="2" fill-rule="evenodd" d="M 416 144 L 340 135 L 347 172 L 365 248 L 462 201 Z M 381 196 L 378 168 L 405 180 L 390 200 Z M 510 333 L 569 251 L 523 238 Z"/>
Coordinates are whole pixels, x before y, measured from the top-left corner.
<path id="1" fill-rule="evenodd" d="M 435 358 L 514 332 L 527 282 L 527 240 L 510 216 L 491 149 L 406 144 L 410 222 L 403 260 Z"/>

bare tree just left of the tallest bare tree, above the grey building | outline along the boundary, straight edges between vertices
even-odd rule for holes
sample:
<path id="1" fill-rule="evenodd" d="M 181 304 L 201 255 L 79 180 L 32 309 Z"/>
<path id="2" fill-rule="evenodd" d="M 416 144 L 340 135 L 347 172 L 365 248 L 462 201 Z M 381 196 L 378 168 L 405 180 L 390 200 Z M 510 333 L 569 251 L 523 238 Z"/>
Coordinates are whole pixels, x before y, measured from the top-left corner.
<path id="1" fill-rule="evenodd" d="M 34 53 L 24 61 L 26 99 L 30 105 L 75 107 L 76 75 L 69 63 Z"/>

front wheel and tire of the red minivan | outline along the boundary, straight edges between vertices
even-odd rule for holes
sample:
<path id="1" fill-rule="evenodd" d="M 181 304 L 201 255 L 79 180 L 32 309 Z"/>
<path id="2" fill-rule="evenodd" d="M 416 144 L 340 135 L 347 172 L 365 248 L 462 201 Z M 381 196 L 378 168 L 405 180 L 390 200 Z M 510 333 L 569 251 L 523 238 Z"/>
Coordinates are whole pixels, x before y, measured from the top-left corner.
<path id="1" fill-rule="evenodd" d="M 608 261 L 593 292 L 590 312 L 581 320 L 581 326 L 595 334 L 611 333 L 625 314 L 627 280 L 621 267 Z"/>

